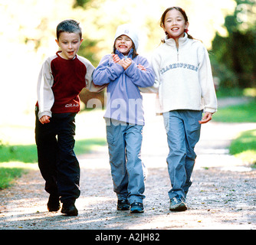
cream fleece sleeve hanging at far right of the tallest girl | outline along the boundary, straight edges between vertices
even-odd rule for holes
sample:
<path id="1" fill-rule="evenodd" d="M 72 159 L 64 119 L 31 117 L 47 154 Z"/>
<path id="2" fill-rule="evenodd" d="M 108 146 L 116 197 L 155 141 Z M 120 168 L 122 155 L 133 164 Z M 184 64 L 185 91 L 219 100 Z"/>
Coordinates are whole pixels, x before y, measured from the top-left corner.
<path id="1" fill-rule="evenodd" d="M 202 47 L 202 53 L 199 56 L 199 82 L 205 103 L 205 113 L 215 113 L 217 111 L 217 98 L 212 79 L 211 63 L 205 47 Z"/>

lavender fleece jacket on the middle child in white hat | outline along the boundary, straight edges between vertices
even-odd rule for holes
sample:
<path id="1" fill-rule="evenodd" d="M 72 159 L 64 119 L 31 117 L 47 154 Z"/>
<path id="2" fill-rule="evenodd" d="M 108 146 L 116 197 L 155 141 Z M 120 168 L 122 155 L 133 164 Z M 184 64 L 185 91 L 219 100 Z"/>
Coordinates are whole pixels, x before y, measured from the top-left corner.
<path id="1" fill-rule="evenodd" d="M 119 51 L 116 54 L 123 59 Z M 142 56 L 132 58 L 133 49 L 128 54 L 132 64 L 126 70 L 120 64 L 115 64 L 110 54 L 100 60 L 94 70 L 93 80 L 96 85 L 107 84 L 107 109 L 105 118 L 120 122 L 144 126 L 143 97 L 139 87 L 151 87 L 155 81 L 153 69 L 148 60 Z M 145 70 L 139 70 L 142 64 Z"/>

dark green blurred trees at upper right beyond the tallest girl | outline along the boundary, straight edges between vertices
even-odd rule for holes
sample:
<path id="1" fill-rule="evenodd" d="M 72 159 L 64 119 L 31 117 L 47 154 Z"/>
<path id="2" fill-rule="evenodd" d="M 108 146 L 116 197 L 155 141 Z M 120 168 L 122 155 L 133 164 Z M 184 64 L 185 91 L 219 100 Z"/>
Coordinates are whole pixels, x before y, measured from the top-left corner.
<path id="1" fill-rule="evenodd" d="M 221 80 L 220 87 L 256 87 L 256 18 L 253 2 L 236 2 L 234 14 L 225 18 L 228 37 L 216 33 L 212 41 L 213 73 Z"/>

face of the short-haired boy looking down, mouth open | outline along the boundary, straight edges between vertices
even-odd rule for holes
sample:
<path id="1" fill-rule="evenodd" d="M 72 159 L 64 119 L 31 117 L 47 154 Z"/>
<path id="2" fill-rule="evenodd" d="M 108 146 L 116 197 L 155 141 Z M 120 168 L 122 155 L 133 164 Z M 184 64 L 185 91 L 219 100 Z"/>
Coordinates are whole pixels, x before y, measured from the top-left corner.
<path id="1" fill-rule="evenodd" d="M 66 60 L 74 59 L 82 41 L 80 35 L 75 32 L 61 32 L 58 40 L 56 39 L 57 45 L 61 47 L 61 57 Z"/>

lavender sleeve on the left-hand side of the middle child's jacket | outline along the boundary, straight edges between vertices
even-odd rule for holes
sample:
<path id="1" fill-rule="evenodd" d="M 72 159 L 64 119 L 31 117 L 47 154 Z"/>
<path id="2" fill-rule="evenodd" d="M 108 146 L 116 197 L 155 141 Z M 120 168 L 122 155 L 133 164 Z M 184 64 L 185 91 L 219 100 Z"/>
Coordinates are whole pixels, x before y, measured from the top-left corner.
<path id="1" fill-rule="evenodd" d="M 94 70 L 93 80 L 96 85 L 103 85 L 116 80 L 123 73 L 123 67 L 113 62 L 113 56 L 108 54 L 100 60 L 100 64 Z"/>

